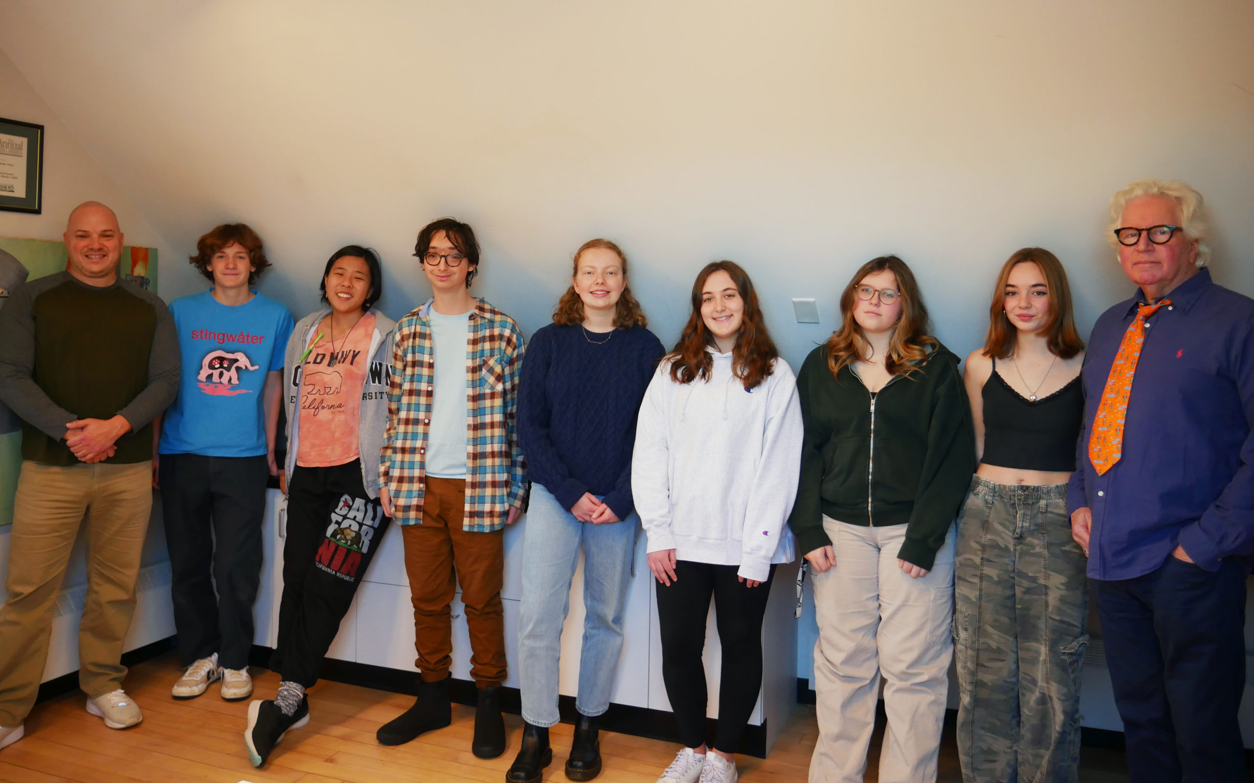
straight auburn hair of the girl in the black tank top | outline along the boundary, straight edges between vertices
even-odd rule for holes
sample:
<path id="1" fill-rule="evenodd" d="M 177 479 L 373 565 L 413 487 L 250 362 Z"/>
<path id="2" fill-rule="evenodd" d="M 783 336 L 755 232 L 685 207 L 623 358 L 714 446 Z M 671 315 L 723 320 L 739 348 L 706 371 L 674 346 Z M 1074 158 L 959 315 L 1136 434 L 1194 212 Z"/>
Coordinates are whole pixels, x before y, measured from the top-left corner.
<path id="1" fill-rule="evenodd" d="M 1048 337 L 1050 353 L 1060 358 L 1071 358 L 1083 351 L 1085 341 L 1080 340 L 1080 332 L 1076 331 L 1076 322 L 1071 316 L 1071 286 L 1067 283 L 1067 272 L 1062 268 L 1062 262 L 1045 248 L 1026 247 L 1014 251 L 997 274 L 993 302 L 988 307 L 984 356 L 1009 358 L 1014 351 L 1018 329 L 1006 316 L 1006 281 L 1011 277 L 1011 269 L 1021 263 L 1035 263 L 1045 277 L 1045 289 L 1050 294 L 1050 319 L 1041 327 L 1041 332 Z"/>

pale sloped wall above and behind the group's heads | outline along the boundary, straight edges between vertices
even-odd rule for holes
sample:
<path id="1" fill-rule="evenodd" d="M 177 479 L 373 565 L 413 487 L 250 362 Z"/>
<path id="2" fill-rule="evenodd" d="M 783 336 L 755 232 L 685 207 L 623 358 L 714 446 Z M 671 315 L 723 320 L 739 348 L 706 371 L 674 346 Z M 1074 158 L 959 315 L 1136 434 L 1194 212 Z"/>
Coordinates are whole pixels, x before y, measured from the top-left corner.
<path id="1" fill-rule="evenodd" d="M 196 237 L 242 219 L 293 309 L 365 242 L 400 314 L 428 292 L 416 229 L 454 214 L 485 246 L 478 291 L 528 332 L 609 236 L 665 342 L 729 257 L 794 365 L 888 251 L 956 351 L 1026 244 L 1067 264 L 1087 329 L 1129 289 L 1107 199 L 1144 175 L 1210 199 L 1215 274 L 1254 293 L 1250 40 L 1243 0 L 0 6 L 0 48 L 177 248 L 167 296 L 203 286 Z M 791 323 L 795 296 L 824 322 Z"/>

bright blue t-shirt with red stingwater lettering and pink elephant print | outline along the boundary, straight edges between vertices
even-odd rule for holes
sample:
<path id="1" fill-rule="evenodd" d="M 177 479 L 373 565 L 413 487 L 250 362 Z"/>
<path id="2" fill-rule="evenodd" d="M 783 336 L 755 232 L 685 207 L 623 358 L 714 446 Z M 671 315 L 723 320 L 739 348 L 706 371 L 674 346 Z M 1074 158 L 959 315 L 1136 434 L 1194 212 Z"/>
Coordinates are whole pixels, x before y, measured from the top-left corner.
<path id="1" fill-rule="evenodd" d="M 174 299 L 169 312 L 183 370 L 157 451 L 211 457 L 265 455 L 262 391 L 266 373 L 283 368 L 292 314 L 260 293 L 227 307 L 209 291 Z"/>

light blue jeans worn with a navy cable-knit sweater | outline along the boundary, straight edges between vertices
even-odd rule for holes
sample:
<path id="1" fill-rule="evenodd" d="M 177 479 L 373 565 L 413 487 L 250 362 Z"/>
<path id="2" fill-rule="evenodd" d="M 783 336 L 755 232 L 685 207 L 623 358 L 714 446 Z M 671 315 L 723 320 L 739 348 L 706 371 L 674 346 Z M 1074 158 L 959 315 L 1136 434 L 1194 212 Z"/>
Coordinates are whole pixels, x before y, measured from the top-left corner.
<path id="1" fill-rule="evenodd" d="M 557 709 L 562 625 L 583 545 L 583 650 L 576 709 L 596 717 L 609 709 L 623 648 L 623 611 L 640 519 L 581 522 L 538 484 L 523 522 L 523 600 L 519 606 L 518 678 L 523 719 L 551 727 Z"/>

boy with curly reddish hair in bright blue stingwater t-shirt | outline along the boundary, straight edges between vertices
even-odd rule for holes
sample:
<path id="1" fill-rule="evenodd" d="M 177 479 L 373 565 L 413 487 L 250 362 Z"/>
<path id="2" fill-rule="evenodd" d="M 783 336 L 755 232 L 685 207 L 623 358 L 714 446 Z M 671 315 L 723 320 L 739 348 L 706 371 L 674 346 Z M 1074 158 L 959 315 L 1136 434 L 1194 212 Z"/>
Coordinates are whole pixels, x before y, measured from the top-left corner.
<path id="1" fill-rule="evenodd" d="M 172 693 L 191 699 L 221 678 L 233 702 L 252 695 L 252 604 L 292 314 L 250 288 L 270 266 L 251 228 L 218 226 L 196 247 L 189 261 L 213 288 L 169 306 L 183 370 L 153 460 L 187 666 Z"/>

